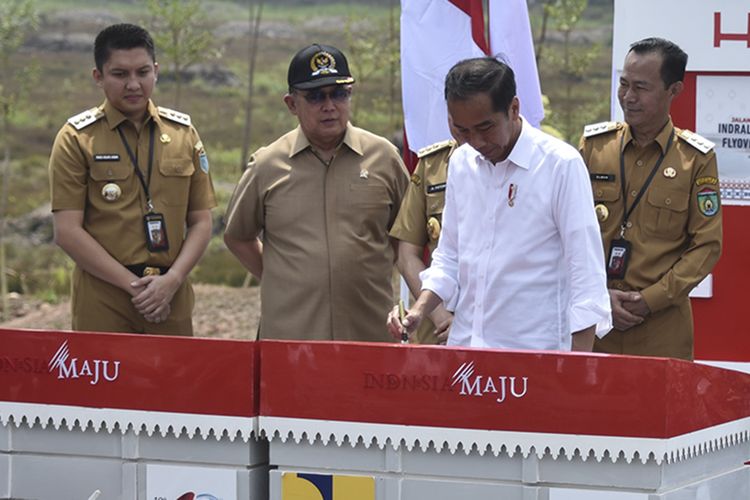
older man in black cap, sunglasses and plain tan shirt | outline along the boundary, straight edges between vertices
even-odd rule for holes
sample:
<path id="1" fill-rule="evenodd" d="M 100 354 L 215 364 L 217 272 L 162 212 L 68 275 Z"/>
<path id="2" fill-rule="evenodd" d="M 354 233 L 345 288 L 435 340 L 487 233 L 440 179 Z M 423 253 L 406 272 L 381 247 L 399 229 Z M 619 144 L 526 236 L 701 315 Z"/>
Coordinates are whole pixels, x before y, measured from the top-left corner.
<path id="1" fill-rule="evenodd" d="M 260 338 L 392 341 L 395 240 L 408 176 L 386 139 L 349 123 L 354 78 L 335 47 L 289 65 L 299 126 L 256 151 L 227 208 L 224 241 L 261 283 Z"/>

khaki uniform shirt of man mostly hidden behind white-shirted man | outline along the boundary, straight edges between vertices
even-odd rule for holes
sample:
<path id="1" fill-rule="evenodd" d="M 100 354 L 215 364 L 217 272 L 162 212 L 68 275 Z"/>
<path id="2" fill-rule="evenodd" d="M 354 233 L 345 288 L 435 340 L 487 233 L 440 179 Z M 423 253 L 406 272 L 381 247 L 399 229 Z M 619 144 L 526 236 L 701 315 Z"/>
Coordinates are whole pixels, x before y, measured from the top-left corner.
<path id="1" fill-rule="evenodd" d="M 391 236 L 419 247 L 428 246 L 430 255 L 437 248 L 445 206 L 448 160 L 455 141 L 443 141 L 421 149 L 419 163 L 411 176 L 404 202 L 391 228 Z M 417 330 L 417 342 L 436 344 L 435 325 L 425 318 Z"/>

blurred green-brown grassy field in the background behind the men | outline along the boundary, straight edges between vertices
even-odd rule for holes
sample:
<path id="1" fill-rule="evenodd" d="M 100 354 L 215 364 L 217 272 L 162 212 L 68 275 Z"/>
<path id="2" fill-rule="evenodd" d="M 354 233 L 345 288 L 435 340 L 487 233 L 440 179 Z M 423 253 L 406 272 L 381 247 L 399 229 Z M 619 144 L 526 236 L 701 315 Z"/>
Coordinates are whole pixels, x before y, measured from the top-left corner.
<path id="1" fill-rule="evenodd" d="M 2 92 L 24 90 L 19 94 L 23 100 L 16 103 L 2 138 L 10 154 L 9 176 L 2 181 L 8 198 L 5 212 L 0 214 L 0 225 L 5 225 L 0 241 L 6 248 L 9 289 L 55 301 L 68 293 L 71 263 L 51 243 L 47 161 L 52 141 L 69 116 L 102 100 L 91 79 L 95 34 L 109 24 L 123 21 L 159 26 L 159 34 L 166 34 L 168 24 L 155 6 L 166 8 L 170 2 L 2 3 L 20 1 L 34 5 L 38 29 L 30 25 L 25 30 L 23 43 L 8 59 L 7 74 L 18 77 L 34 67 L 37 79 L 32 86 L 27 85 L 25 77 L 6 79 L 0 84 L 0 97 Z M 246 156 L 243 149 L 253 151 L 296 124 L 281 101 L 291 55 L 316 41 L 342 48 L 358 78 L 353 121 L 385 137 L 398 138 L 399 2 L 182 3 L 196 7 L 193 17 L 183 19 L 180 26 L 197 36 L 192 47 L 199 50 L 186 52 L 181 61 L 175 61 L 174 47 L 163 46 L 157 52 L 162 72 L 154 98 L 160 105 L 176 107 L 193 117 L 207 145 L 219 196 L 219 208 L 214 212 L 216 236 L 194 272 L 194 279 L 239 286 L 245 282 L 246 274 L 220 240 L 222 215 L 240 175 Z M 609 116 L 612 0 L 528 3 L 539 52 L 542 91 L 550 103 L 545 123 L 575 144 L 585 123 Z M 258 19 L 254 43 L 253 26 Z M 0 19 L 0 26 L 2 22 Z M 167 42 L 162 40 L 164 43 Z M 253 52 L 253 86 L 249 93 Z M 249 96 L 252 120 L 248 126 Z"/>

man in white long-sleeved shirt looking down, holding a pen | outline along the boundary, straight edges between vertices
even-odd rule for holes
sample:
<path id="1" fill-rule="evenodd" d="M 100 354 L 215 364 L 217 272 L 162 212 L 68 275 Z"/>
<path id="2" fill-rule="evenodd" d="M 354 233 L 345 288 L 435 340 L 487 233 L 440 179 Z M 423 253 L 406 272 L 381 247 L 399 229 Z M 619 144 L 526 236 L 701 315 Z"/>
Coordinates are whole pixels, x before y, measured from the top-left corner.
<path id="1" fill-rule="evenodd" d="M 414 331 L 458 294 L 448 345 L 591 351 L 612 318 L 583 160 L 521 117 L 513 71 L 502 62 L 459 62 L 445 96 L 467 144 L 450 159 L 422 292 L 402 321 L 391 313 L 391 334 Z"/>

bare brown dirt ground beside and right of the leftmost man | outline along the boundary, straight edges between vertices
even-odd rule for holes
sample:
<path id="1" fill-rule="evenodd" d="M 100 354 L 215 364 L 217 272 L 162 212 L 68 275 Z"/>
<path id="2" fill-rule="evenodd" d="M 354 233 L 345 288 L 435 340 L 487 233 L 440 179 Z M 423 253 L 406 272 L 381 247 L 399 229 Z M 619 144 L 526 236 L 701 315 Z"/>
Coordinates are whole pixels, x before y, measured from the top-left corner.
<path id="1" fill-rule="evenodd" d="M 193 329 L 196 337 L 254 339 L 260 318 L 260 288 L 194 285 Z M 47 304 L 11 294 L 11 319 L 0 328 L 69 330 L 70 302 Z"/>

